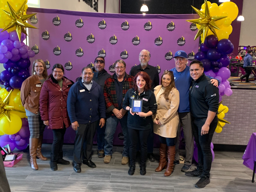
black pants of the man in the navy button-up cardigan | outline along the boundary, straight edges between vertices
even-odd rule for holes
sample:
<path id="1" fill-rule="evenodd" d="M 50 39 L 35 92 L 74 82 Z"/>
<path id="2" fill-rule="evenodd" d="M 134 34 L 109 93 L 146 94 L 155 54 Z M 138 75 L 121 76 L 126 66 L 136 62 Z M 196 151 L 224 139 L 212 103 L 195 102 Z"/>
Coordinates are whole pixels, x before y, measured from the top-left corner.
<path id="1" fill-rule="evenodd" d="M 76 130 L 74 143 L 74 162 L 82 163 L 92 159 L 92 142 L 96 132 L 98 121 L 87 124 L 79 124 Z"/>

